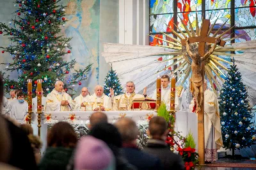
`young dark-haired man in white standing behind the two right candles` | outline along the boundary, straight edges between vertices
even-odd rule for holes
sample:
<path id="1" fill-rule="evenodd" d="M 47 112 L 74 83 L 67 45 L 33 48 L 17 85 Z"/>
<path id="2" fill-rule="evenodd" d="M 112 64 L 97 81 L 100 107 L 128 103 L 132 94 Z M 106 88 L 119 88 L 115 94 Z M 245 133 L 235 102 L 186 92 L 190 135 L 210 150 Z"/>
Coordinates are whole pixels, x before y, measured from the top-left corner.
<path id="1" fill-rule="evenodd" d="M 171 89 L 168 87 L 170 84 L 170 77 L 168 75 L 162 75 L 161 77 L 161 102 L 166 104 L 166 109 L 170 111 L 170 104 L 171 104 Z M 154 91 L 153 97 L 156 100 L 156 90 Z M 179 97 L 177 95 L 177 91 L 175 93 L 175 111 L 180 110 L 180 102 Z"/>

